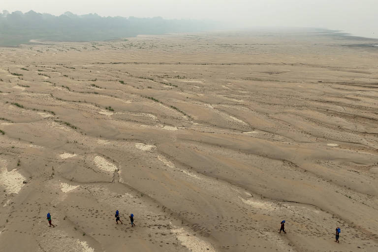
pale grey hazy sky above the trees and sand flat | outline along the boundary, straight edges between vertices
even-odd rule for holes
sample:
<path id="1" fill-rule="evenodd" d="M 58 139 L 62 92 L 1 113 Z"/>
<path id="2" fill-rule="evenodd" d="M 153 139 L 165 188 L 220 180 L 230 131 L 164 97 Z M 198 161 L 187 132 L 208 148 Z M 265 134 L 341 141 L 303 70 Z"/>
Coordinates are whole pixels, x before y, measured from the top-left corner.
<path id="1" fill-rule="evenodd" d="M 246 27 L 321 27 L 378 38 L 378 0 L 1 0 L 10 12 L 210 19 Z"/>

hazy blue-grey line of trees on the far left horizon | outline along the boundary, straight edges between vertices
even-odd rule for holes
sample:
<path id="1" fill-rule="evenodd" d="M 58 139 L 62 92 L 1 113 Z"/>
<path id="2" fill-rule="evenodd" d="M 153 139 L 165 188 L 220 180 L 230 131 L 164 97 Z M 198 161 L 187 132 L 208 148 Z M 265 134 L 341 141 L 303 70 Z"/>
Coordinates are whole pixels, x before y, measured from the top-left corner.
<path id="1" fill-rule="evenodd" d="M 46 41 L 101 41 L 138 34 L 200 32 L 216 24 L 198 20 L 166 20 L 161 17 L 101 17 L 97 14 L 60 16 L 29 11 L 0 13 L 0 46 L 27 44 L 31 39 Z"/>

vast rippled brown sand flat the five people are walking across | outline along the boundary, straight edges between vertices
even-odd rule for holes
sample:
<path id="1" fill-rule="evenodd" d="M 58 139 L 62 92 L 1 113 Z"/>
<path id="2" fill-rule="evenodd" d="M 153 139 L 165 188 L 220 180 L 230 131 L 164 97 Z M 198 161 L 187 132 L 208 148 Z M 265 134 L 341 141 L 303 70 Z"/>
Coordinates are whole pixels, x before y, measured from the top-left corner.
<path id="1" fill-rule="evenodd" d="M 372 44 L 260 31 L 0 48 L 0 251 L 377 252 Z"/>

